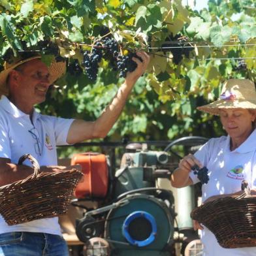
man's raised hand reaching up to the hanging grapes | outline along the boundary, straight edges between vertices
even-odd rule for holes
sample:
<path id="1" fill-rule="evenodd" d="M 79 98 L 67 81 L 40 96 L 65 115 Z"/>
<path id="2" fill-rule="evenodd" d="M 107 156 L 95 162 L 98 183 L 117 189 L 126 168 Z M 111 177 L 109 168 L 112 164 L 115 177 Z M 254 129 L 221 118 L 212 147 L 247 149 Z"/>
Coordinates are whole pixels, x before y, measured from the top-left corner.
<path id="1" fill-rule="evenodd" d="M 146 54 L 146 52 L 136 52 L 136 55 L 142 59 L 138 59 L 137 57 L 133 57 L 133 61 L 136 62 L 137 67 L 133 72 L 127 72 L 127 76 L 125 78 L 126 83 L 134 84 L 142 74 L 146 71 L 148 67 L 148 63 L 150 62 L 150 56 Z"/>

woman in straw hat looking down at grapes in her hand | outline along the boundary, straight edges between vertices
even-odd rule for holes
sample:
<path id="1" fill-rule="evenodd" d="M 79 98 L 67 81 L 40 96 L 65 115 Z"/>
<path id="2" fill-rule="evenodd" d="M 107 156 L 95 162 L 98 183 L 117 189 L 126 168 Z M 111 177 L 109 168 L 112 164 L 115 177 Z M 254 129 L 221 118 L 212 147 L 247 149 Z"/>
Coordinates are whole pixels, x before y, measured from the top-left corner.
<path id="1" fill-rule="evenodd" d="M 198 108 L 219 115 L 227 136 L 212 138 L 195 155 L 185 156 L 171 176 L 173 187 L 185 187 L 199 182 L 191 168 L 208 168 L 208 184 L 202 185 L 202 202 L 240 195 L 242 180 L 255 193 L 256 188 L 256 91 L 250 80 L 231 79 L 225 82 L 217 101 Z M 205 256 L 252 256 L 256 247 L 225 249 L 206 227 L 195 222 L 202 230 Z"/>

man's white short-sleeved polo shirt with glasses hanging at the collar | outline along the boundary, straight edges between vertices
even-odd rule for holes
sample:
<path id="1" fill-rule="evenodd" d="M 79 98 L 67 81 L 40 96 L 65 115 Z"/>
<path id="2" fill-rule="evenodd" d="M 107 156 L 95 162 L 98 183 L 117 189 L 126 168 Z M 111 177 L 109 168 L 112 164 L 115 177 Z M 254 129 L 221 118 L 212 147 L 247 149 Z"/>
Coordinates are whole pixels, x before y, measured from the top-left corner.
<path id="1" fill-rule="evenodd" d="M 29 115 L 19 110 L 7 97 L 0 100 L 0 157 L 18 163 L 18 159 L 30 153 L 39 165 L 57 165 L 56 146 L 67 144 L 67 134 L 73 119 L 56 118 L 33 112 Z M 24 165 L 31 166 L 26 160 Z M 0 233 L 27 231 L 61 235 L 58 218 L 38 219 L 8 226 L 0 216 Z"/>

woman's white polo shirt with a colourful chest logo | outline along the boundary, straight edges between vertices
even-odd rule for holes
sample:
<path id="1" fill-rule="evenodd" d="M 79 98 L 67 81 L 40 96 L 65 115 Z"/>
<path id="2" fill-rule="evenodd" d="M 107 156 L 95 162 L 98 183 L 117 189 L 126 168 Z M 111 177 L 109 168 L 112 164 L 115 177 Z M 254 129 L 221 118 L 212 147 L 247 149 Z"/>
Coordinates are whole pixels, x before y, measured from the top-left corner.
<path id="1" fill-rule="evenodd" d="M 208 168 L 209 182 L 202 185 L 202 202 L 213 195 L 235 193 L 241 190 L 242 180 L 249 187 L 256 187 L 256 130 L 236 150 L 230 150 L 230 136 L 212 138 L 195 153 L 195 157 Z M 197 175 L 189 175 L 193 183 Z M 255 231 L 256 232 L 256 231 Z M 222 248 L 206 227 L 202 231 L 204 255 L 207 256 L 256 256 L 256 247 Z"/>

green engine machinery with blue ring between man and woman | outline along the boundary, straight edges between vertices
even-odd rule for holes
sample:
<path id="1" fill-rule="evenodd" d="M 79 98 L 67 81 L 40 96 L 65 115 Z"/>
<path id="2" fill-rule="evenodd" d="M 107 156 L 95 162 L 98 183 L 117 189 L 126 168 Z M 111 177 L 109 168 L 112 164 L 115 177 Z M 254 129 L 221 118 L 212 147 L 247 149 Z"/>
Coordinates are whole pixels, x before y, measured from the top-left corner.
<path id="1" fill-rule="evenodd" d="M 193 146 L 195 146 L 195 137 L 193 138 Z M 197 137 L 197 139 L 200 143 L 202 140 L 206 141 L 202 137 Z M 104 182 L 101 180 L 99 184 L 110 187 L 108 196 L 111 200 L 107 200 L 104 195 L 105 199 L 102 199 L 103 204 L 99 208 L 87 209 L 84 217 L 76 221 L 76 234 L 82 242 L 89 244 L 88 248 L 91 248 L 92 239 L 99 238 L 106 241 L 108 249 L 103 250 L 105 253 L 91 254 L 90 252 L 87 255 L 174 256 L 178 255 L 174 246 L 176 242 L 183 243 L 182 253 L 185 255 L 187 244 L 198 239 L 189 217 L 190 211 L 195 206 L 193 189 L 188 187 L 183 191 L 176 191 L 168 182 L 173 170 L 171 167 L 173 159 L 168 151 L 172 153 L 173 145 L 176 144 L 170 144 L 165 151 L 158 152 L 148 150 L 144 144 L 129 144 L 127 153 L 121 159 L 120 169 L 116 170 L 112 179 L 109 179 L 109 184 L 106 184 L 106 177 L 111 177 L 111 174 L 106 174 L 106 168 L 103 168 Z M 178 154 L 175 153 L 175 155 L 177 157 Z M 76 159 L 80 158 L 76 155 Z M 79 163 L 79 161 L 81 159 L 78 161 L 72 159 L 72 164 Z M 93 166 L 93 161 L 97 160 L 90 157 L 86 161 L 91 161 L 87 166 Z M 90 176 L 88 169 L 83 171 L 88 177 Z M 100 171 L 97 170 L 97 173 L 99 174 Z M 165 187 L 163 181 L 169 186 Z M 97 181 L 94 183 L 97 184 Z M 93 191 L 88 187 L 93 187 L 93 184 L 84 188 L 87 195 L 88 193 L 92 195 Z M 96 187 L 97 185 L 95 189 Z M 80 186 L 79 195 L 83 195 L 82 192 Z M 174 197 L 178 197 L 178 202 L 175 202 Z M 78 206 L 77 203 L 75 205 Z M 180 214 L 178 221 L 176 219 L 177 208 L 178 215 Z M 174 225 L 175 221 L 176 225 Z M 174 233 L 177 231 L 178 234 L 183 234 L 183 240 L 180 240 L 180 236 L 175 236 Z M 99 241 L 97 244 L 100 244 Z"/>

